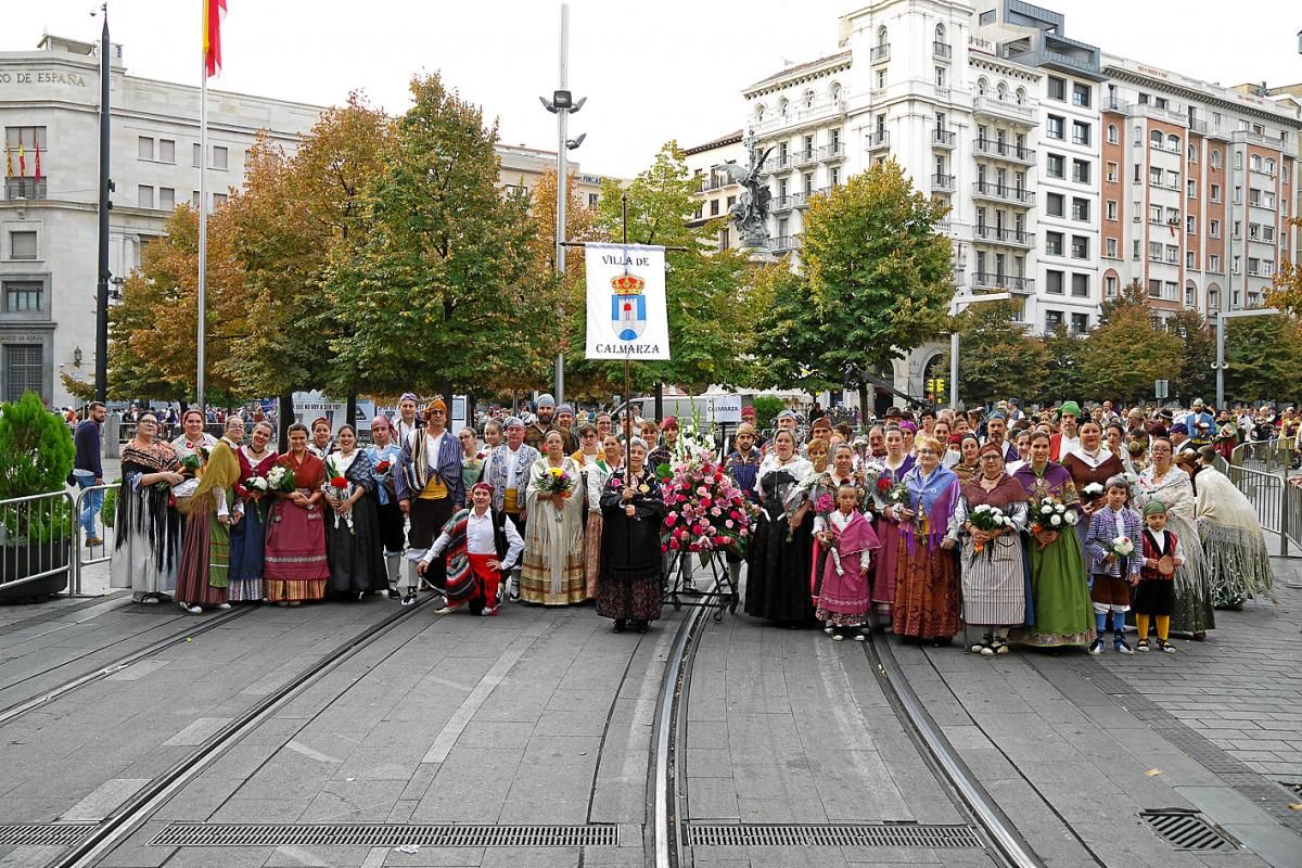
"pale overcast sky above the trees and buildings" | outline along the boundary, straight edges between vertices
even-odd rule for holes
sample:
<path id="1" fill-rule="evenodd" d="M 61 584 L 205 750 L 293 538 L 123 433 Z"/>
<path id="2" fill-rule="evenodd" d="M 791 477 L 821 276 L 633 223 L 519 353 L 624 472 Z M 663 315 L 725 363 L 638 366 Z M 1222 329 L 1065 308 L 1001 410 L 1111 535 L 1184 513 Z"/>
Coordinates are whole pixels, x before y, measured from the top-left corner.
<path id="1" fill-rule="evenodd" d="M 3 0 L 0 49 L 44 31 L 98 39 L 98 0 Z M 836 48 L 852 0 L 573 0 L 570 88 L 589 96 L 570 135 L 583 170 L 631 176 L 671 138 L 697 144 L 741 126 L 746 85 Z M 1069 36 L 1233 85 L 1302 81 L 1298 0 L 1046 0 Z M 198 83 L 199 0 L 112 0 L 113 42 L 137 75 Z M 413 73 L 443 73 L 501 121 L 506 143 L 553 148 L 538 103 L 557 81 L 551 0 L 228 0 L 225 68 L 214 86 L 306 103 L 362 90 L 391 112 Z M 1118 23 L 1120 22 L 1120 23 Z"/>

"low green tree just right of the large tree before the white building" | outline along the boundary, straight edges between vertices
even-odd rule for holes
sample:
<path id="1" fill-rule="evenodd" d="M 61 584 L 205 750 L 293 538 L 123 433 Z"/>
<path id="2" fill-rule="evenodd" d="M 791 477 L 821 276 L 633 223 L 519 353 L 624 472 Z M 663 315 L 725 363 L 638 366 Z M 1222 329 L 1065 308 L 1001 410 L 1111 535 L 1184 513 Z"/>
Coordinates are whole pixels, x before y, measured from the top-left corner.
<path id="1" fill-rule="evenodd" d="M 958 397 L 965 406 L 1034 393 L 1049 370 L 1044 344 L 1017 323 L 1013 301 L 971 305 L 954 318 L 958 328 Z M 949 353 L 940 363 L 949 370 Z"/>

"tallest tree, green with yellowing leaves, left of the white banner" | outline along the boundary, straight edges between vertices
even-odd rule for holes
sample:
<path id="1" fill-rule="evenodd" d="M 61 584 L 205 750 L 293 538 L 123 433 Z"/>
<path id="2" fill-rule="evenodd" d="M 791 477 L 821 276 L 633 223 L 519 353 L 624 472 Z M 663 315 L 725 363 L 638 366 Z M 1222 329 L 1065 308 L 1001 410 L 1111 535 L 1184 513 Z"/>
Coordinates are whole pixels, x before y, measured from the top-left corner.
<path id="1" fill-rule="evenodd" d="M 531 273 L 527 199 L 497 189 L 496 124 L 437 74 L 411 96 L 367 191 L 368 237 L 329 271 L 331 349 L 376 392 L 450 400 L 546 341 L 556 307 Z"/>

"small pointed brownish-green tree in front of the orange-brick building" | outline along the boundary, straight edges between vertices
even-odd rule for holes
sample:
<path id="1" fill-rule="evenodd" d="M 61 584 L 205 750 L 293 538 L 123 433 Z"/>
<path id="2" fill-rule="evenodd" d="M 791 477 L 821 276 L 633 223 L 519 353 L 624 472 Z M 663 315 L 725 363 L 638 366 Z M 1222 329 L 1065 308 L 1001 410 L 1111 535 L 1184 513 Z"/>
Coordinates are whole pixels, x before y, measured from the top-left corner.
<path id="1" fill-rule="evenodd" d="M 1152 394 L 1155 380 L 1173 379 L 1182 349 L 1178 337 L 1156 324 L 1147 293 L 1135 281 L 1103 303 L 1081 363 L 1092 397 L 1135 401 Z"/>

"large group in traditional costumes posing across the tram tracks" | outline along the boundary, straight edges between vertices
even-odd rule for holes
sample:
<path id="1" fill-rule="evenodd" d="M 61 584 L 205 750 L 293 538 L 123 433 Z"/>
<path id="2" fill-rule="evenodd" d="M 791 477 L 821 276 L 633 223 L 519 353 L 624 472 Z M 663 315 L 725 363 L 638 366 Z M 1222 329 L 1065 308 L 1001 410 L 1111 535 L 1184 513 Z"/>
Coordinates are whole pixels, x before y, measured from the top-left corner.
<path id="1" fill-rule="evenodd" d="M 934 645 L 962 632 L 986 656 L 1098 655 L 1111 632 L 1117 652 L 1173 653 L 1172 636 L 1203 639 L 1217 609 L 1273 599 L 1256 513 L 1216 468 L 1228 435 L 1200 401 L 1178 418 L 1111 402 L 893 407 L 861 431 L 816 418 L 807 432 L 792 411 L 762 432 L 746 407 L 723 449 L 672 416 L 581 422 L 546 394 L 535 409 L 487 419 L 480 442 L 448 428 L 441 400 L 422 411 L 409 393 L 395 418 L 370 420 L 368 445 L 316 419 L 289 426 L 284 454 L 264 420 L 246 431 L 230 414 L 214 437 L 190 410 L 165 442 L 141 411 L 122 452 L 113 584 L 194 614 L 411 605 L 426 591 L 445 614 L 592 603 L 616 632 L 641 632 L 698 550 L 667 530 L 686 511 L 673 474 L 715 450 L 738 500 L 704 502 L 732 530 L 702 550 L 743 587 L 747 616 L 837 642 L 876 626 Z"/>

